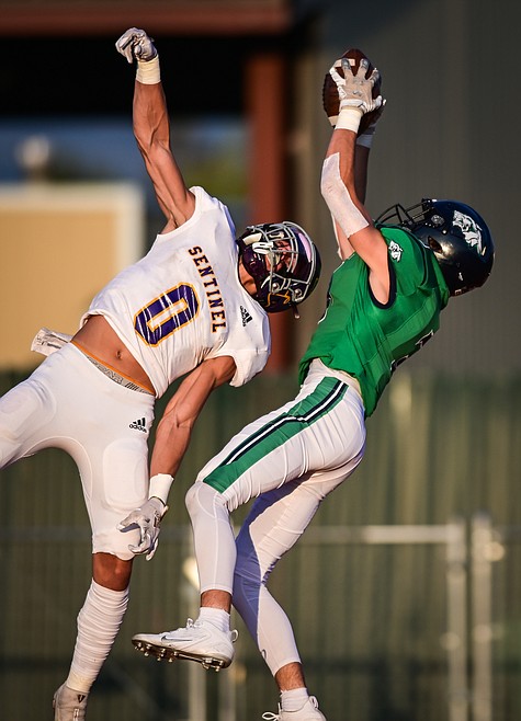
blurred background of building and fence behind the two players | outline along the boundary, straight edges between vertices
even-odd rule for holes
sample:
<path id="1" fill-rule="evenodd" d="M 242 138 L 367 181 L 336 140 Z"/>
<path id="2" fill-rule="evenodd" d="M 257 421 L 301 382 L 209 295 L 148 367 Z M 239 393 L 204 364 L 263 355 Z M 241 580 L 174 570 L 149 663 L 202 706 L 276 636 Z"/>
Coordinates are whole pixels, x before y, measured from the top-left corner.
<path id="1" fill-rule="evenodd" d="M 514 0 L 0 0 L 2 392 L 38 362 L 29 352 L 35 332 L 72 333 L 94 293 L 162 227 L 132 135 L 134 70 L 114 48 L 129 26 L 157 42 L 186 182 L 220 197 L 239 231 L 299 222 L 324 260 L 301 320 L 272 319 L 268 369 L 245 389 L 219 389 L 201 419 L 160 551 L 133 581 L 91 721 L 235 721 L 276 708 L 243 628 L 224 680 L 190 664 L 147 664 L 128 638 L 193 613 L 183 490 L 243 422 L 294 391 L 338 263 L 319 194 L 330 136 L 321 84 L 353 46 L 382 71 L 388 101 L 370 211 L 426 196 L 464 201 L 487 220 L 496 263 L 486 287 L 451 302 L 442 331 L 399 369 L 370 421 L 356 480 L 326 502 L 273 584 L 328 721 L 518 721 L 520 20 Z M 50 718 L 89 577 L 69 459 L 45 451 L 2 471 L 0 518 L 0 696 L 7 713 L 36 721 Z M 446 526 L 454 518 L 463 525 Z M 374 529 L 384 526 L 397 536 L 381 545 Z M 373 536 L 347 533 L 362 527 Z"/>

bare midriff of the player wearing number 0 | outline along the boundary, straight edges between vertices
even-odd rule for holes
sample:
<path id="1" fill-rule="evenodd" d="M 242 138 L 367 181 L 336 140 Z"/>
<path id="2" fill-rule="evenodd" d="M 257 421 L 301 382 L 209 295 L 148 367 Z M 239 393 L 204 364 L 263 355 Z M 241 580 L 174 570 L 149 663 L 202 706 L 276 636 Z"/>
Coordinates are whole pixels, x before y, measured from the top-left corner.
<path id="1" fill-rule="evenodd" d="M 150 378 L 103 316 L 90 316 L 72 342 L 80 351 L 155 393 Z"/>

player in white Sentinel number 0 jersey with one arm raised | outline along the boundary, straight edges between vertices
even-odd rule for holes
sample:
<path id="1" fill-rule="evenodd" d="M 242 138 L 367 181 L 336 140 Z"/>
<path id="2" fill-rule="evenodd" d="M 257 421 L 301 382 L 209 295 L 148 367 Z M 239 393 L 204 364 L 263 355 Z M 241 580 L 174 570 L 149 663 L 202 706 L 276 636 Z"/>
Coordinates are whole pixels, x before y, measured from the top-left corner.
<path id="1" fill-rule="evenodd" d="M 132 27 L 116 49 L 137 61 L 134 133 L 167 222 L 149 253 L 95 296 L 71 339 L 38 333 L 33 348 L 47 357 L 0 399 L 0 468 L 42 448 L 65 449 L 92 526 L 92 582 L 69 675 L 54 696 L 55 721 L 86 716 L 128 604 L 133 559 L 156 551 L 170 485 L 208 394 L 262 370 L 267 311 L 303 301 L 320 271 L 301 227 L 251 226 L 237 239 L 227 208 L 185 186 L 151 39 Z M 181 376 L 148 467 L 155 400 Z"/>

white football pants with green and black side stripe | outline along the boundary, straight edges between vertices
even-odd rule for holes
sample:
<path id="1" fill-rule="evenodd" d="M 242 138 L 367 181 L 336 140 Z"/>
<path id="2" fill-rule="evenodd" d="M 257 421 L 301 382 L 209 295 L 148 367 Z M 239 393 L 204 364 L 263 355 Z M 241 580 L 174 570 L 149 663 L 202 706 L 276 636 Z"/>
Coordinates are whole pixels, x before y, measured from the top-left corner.
<path id="1" fill-rule="evenodd" d="M 360 464 L 364 445 L 358 390 L 315 362 L 298 396 L 231 438 L 186 494 L 201 591 L 233 593 L 273 675 L 299 655 L 269 575 Z M 251 499 L 236 540 L 229 514 Z"/>

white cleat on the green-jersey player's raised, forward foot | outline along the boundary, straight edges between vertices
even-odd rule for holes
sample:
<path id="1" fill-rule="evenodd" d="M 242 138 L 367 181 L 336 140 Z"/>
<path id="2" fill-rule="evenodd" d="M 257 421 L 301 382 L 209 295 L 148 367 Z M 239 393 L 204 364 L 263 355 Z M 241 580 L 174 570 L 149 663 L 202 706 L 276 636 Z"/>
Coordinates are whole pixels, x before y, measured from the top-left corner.
<path id="1" fill-rule="evenodd" d="M 165 633 L 137 633 L 132 642 L 146 656 L 158 661 L 185 659 L 196 661 L 204 668 L 220 671 L 234 660 L 234 643 L 237 631 L 220 631 L 208 621 L 189 618 L 184 628 Z"/>

